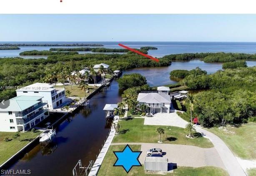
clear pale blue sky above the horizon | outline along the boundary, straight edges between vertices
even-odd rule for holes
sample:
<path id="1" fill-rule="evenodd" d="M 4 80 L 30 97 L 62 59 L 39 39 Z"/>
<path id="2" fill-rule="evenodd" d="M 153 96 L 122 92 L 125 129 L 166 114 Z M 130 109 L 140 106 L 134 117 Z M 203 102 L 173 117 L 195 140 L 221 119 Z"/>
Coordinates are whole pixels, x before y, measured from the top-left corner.
<path id="1" fill-rule="evenodd" d="M 256 42 L 256 15 L 0 15 L 0 41 Z"/>

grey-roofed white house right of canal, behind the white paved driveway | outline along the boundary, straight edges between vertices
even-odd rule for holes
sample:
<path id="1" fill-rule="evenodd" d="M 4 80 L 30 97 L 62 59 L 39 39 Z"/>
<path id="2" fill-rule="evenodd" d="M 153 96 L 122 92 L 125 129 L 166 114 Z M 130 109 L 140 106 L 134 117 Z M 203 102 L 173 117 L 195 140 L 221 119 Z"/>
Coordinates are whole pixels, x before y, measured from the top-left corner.
<path id="1" fill-rule="evenodd" d="M 171 97 L 166 92 L 158 92 L 158 93 L 139 93 L 138 94 L 138 104 L 146 104 L 149 107 L 149 112 L 157 113 L 170 113 L 171 108 Z"/>

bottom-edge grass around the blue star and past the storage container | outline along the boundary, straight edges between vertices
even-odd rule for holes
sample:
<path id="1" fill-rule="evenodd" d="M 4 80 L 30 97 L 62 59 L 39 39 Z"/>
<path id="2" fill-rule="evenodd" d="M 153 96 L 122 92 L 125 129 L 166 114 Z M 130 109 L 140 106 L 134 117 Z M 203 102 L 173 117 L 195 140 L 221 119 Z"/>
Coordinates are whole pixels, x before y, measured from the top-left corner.
<path id="1" fill-rule="evenodd" d="M 140 145 L 130 145 L 133 151 L 140 151 Z M 131 171 L 126 174 L 123 167 L 113 166 L 116 157 L 113 154 L 113 151 L 122 151 L 125 145 L 116 145 L 110 146 L 108 152 L 103 160 L 102 165 L 100 166 L 100 170 L 98 172 L 98 176 L 159 176 L 156 174 L 145 174 L 143 166 L 133 166 Z M 143 163 L 141 163 L 143 165 Z M 216 167 L 179 167 L 173 170 L 173 173 L 168 173 L 167 176 L 228 176 L 226 171 L 216 168 Z"/>

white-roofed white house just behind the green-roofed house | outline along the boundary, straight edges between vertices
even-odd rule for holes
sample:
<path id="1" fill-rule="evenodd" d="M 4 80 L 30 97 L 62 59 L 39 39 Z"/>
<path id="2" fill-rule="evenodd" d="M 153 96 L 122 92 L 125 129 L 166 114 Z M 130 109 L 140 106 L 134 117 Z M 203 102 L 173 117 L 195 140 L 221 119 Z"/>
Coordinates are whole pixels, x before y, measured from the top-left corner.
<path id="1" fill-rule="evenodd" d="M 66 102 L 65 89 L 55 88 L 48 83 L 35 83 L 16 90 L 17 96 L 40 96 L 47 102 L 48 109 L 55 109 Z"/>

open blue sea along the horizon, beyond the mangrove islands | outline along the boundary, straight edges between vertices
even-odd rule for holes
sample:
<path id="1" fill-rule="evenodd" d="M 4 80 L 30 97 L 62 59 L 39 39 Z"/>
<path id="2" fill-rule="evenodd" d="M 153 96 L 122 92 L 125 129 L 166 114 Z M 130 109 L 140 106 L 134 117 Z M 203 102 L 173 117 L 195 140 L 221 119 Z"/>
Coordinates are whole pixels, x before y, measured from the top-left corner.
<path id="1" fill-rule="evenodd" d="M 93 43 L 102 44 L 105 48 L 121 48 L 118 43 L 132 48 L 143 46 L 157 47 L 149 50 L 153 57 L 163 57 L 168 54 L 196 53 L 196 52 L 242 52 L 256 53 L 256 42 L 0 42 L 0 43 L 28 43 L 28 44 L 73 44 Z M 0 50 L 0 57 L 18 57 L 20 52 L 28 50 L 49 50 L 51 47 L 20 47 L 21 50 Z M 80 53 L 91 53 L 80 52 Z M 26 57 L 33 58 L 33 57 Z"/>

